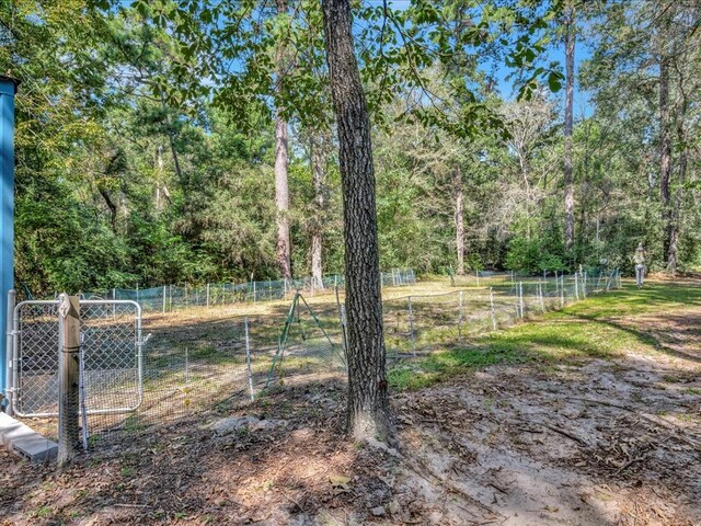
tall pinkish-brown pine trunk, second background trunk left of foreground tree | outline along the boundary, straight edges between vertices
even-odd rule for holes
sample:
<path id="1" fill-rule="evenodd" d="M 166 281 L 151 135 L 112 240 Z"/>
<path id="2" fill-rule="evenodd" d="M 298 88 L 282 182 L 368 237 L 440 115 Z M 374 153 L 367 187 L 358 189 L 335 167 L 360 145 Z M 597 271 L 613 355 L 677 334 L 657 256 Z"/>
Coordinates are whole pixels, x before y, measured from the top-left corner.
<path id="1" fill-rule="evenodd" d="M 287 12 L 287 0 L 276 0 L 277 14 Z M 277 108 L 275 112 L 275 206 L 277 208 L 277 264 L 284 279 L 292 277 L 289 244 L 289 190 L 287 174 L 287 121 L 280 112 L 280 91 L 285 75 L 285 44 L 279 43 L 275 57 L 277 68 Z"/>

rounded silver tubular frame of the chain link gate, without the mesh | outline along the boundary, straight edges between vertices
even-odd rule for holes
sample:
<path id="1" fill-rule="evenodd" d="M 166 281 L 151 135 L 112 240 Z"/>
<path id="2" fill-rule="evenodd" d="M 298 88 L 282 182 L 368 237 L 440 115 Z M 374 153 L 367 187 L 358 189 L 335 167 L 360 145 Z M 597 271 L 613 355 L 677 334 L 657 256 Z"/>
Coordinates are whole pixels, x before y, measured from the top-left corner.
<path id="1" fill-rule="evenodd" d="M 14 291 L 11 290 L 10 295 L 8 296 L 8 302 L 11 304 L 13 302 L 13 298 L 14 298 Z M 19 304 L 16 304 L 14 306 L 14 309 L 12 310 L 13 315 L 12 315 L 12 331 L 8 332 L 8 342 L 12 342 L 11 345 L 11 350 L 8 353 L 10 355 L 10 359 L 8 361 L 7 367 L 8 367 L 8 395 L 10 398 L 10 404 L 9 404 L 9 409 L 10 414 L 16 414 L 20 418 L 57 418 L 58 416 L 58 411 L 56 412 L 44 412 L 44 413 L 32 413 L 32 412 L 23 412 L 20 409 L 18 409 L 18 397 L 16 395 L 16 390 L 18 390 L 18 385 L 19 385 L 19 379 L 20 379 L 20 370 L 19 370 L 19 343 L 20 343 L 20 309 L 25 306 L 25 305 L 55 305 L 58 307 L 59 305 L 59 300 L 58 299 L 47 299 L 47 300 L 25 300 L 25 301 L 20 301 Z M 139 409 L 139 407 L 141 405 L 141 403 L 143 402 L 143 353 L 142 353 L 142 347 L 143 347 L 143 339 L 141 335 L 141 306 L 136 302 L 133 301 L 130 299 L 81 299 L 80 300 L 80 305 L 81 306 L 90 306 L 90 305 L 103 305 L 103 306 L 118 306 L 118 305 L 129 305 L 129 306 L 134 306 L 135 307 L 135 311 L 136 311 L 136 335 L 135 335 L 135 341 L 134 344 L 136 346 L 136 355 L 137 355 L 137 382 L 138 382 L 138 401 L 136 404 L 134 404 L 133 407 L 125 407 L 125 408 L 113 408 L 113 409 L 93 409 L 90 411 L 83 411 L 81 410 L 81 413 L 83 414 L 120 414 L 120 413 L 130 413 L 136 411 L 137 409 Z M 58 333 L 59 333 L 59 339 L 60 339 L 60 332 L 61 332 L 61 325 L 62 325 L 62 321 L 61 321 L 61 317 L 60 315 L 58 315 L 57 312 L 57 319 L 56 322 L 58 323 Z M 59 339 L 57 339 L 56 341 L 56 352 L 59 353 L 60 352 L 60 341 Z M 82 338 L 81 338 L 82 340 Z M 82 367 L 81 367 L 81 371 L 82 371 Z M 10 381 L 11 378 L 11 381 Z M 80 384 L 81 386 L 83 385 L 83 379 L 82 379 L 82 373 L 81 373 L 81 377 L 80 377 Z M 81 389 L 82 390 L 82 389 Z M 82 399 L 81 397 L 81 407 L 84 408 L 84 403 L 85 400 Z"/>

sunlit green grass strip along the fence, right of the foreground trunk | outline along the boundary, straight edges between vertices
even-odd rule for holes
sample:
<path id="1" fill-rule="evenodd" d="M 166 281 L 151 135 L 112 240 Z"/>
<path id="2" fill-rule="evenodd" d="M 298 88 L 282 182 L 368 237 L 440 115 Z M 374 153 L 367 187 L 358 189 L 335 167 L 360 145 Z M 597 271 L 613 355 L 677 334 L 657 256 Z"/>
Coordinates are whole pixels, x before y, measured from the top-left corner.
<path id="1" fill-rule="evenodd" d="M 576 363 L 581 358 L 613 358 L 625 353 L 654 354 L 666 347 L 654 334 L 629 327 L 636 317 L 701 306 L 701 284 L 652 282 L 639 289 L 590 296 L 563 310 L 498 332 L 468 339 L 389 373 L 398 390 L 421 389 L 470 369 L 496 364 Z"/>

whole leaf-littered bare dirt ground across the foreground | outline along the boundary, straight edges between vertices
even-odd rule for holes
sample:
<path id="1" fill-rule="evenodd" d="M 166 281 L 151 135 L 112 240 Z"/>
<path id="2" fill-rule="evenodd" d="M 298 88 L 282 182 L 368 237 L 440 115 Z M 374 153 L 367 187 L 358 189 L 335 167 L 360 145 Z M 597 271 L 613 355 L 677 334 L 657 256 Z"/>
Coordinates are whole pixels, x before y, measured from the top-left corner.
<path id="1" fill-rule="evenodd" d="M 0 449 L 0 524 L 701 524 L 701 305 L 597 323 L 644 345 L 398 393 L 399 453 L 343 436 L 331 376 L 65 470 Z"/>

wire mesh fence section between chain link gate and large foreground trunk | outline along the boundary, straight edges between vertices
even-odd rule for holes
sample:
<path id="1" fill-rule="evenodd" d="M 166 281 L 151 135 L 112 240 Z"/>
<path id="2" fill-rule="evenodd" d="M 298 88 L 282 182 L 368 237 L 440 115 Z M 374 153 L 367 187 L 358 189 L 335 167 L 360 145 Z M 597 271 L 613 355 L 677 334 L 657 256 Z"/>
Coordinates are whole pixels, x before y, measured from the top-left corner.
<path id="1" fill-rule="evenodd" d="M 344 370 L 335 307 L 318 312 L 297 294 L 289 309 L 203 320 L 151 316 L 143 321 L 143 400 L 138 410 L 88 415 L 93 446 L 150 434 L 223 403 L 245 403 L 264 389 Z"/>

